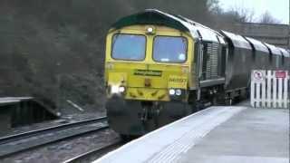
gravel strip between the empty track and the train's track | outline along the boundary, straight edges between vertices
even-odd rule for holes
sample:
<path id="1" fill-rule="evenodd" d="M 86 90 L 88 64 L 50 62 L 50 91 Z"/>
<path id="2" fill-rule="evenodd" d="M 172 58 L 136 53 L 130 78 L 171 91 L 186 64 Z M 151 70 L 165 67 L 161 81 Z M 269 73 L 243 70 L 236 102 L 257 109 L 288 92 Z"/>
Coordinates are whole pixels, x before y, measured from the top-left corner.
<path id="1" fill-rule="evenodd" d="M 120 139 L 116 132 L 111 129 L 104 129 L 79 138 L 66 139 L 47 146 L 24 151 L 11 157 L 0 159 L 0 162 L 63 162 L 66 159 L 73 158 L 92 149 L 104 147 L 116 139 Z"/>

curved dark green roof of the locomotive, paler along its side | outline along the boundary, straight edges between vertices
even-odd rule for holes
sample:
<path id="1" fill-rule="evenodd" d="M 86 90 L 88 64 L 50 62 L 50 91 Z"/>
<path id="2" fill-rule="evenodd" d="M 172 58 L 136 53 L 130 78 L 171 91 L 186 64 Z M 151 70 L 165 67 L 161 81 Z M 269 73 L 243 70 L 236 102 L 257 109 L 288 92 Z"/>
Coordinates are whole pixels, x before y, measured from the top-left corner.
<path id="1" fill-rule="evenodd" d="M 144 12 L 123 17 L 113 24 L 112 27 L 119 29 L 134 24 L 158 24 L 169 26 L 183 32 L 189 32 L 193 38 L 209 42 L 225 43 L 221 34 L 207 26 L 198 24 L 181 15 L 167 14 L 156 9 L 147 9 Z"/>

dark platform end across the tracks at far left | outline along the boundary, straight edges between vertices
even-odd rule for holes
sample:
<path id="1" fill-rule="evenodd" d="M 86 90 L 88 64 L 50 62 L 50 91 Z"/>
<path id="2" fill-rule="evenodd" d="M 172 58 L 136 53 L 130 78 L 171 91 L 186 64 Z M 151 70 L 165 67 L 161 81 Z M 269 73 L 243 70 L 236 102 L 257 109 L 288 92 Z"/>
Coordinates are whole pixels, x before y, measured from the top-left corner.
<path id="1" fill-rule="evenodd" d="M 15 127 L 54 120 L 60 115 L 58 110 L 34 97 L 1 97 L 0 135 Z"/>

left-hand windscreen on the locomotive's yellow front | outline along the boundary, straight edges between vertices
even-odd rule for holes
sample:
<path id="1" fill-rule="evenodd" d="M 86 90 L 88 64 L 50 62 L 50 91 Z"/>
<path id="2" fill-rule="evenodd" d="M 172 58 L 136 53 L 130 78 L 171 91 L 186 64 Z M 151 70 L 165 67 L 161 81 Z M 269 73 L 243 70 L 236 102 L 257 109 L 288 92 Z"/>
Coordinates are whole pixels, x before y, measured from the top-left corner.
<path id="1" fill-rule="evenodd" d="M 141 61 L 145 58 L 146 37 L 137 34 L 115 34 L 111 57 L 116 60 Z"/>

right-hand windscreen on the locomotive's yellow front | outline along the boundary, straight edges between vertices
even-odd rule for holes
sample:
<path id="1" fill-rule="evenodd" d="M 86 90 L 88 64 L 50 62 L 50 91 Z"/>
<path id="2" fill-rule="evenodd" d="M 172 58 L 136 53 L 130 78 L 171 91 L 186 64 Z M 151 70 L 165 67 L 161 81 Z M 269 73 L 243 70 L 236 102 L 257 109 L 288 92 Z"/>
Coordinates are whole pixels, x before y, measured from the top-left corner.
<path id="1" fill-rule="evenodd" d="M 188 41 L 184 37 L 156 36 L 153 43 L 153 60 L 156 62 L 185 62 Z"/>

